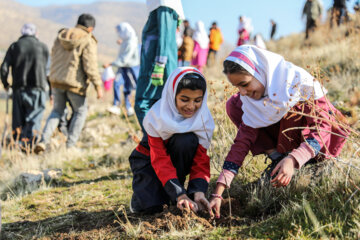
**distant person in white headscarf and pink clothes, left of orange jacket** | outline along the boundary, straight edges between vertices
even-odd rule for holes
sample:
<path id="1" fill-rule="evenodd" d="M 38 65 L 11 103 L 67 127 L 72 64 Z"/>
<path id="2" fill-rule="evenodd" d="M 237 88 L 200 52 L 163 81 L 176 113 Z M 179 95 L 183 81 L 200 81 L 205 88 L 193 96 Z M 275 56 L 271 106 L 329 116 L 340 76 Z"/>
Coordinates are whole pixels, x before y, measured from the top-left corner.
<path id="1" fill-rule="evenodd" d="M 206 65 L 207 54 L 209 52 L 209 37 L 202 21 L 196 22 L 193 39 L 194 51 L 191 65 L 199 69 L 200 72 L 203 72 L 203 68 Z"/>

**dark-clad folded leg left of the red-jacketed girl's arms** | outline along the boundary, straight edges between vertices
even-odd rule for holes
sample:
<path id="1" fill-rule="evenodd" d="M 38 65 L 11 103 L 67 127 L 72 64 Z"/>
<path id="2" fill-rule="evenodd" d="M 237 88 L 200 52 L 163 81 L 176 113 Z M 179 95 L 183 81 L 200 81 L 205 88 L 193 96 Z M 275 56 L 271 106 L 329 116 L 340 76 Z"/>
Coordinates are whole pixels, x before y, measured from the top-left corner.
<path id="1" fill-rule="evenodd" d="M 147 141 L 141 141 L 129 157 L 133 173 L 133 195 L 131 211 L 133 213 L 161 212 L 170 199 L 157 177 L 150 160 L 150 148 Z"/>

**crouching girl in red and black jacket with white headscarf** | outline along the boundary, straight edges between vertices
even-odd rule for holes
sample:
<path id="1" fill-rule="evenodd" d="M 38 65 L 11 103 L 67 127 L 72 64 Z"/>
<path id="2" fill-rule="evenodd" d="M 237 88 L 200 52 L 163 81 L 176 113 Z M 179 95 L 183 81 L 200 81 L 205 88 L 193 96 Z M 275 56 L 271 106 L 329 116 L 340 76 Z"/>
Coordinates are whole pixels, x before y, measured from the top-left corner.
<path id="1" fill-rule="evenodd" d="M 148 145 L 142 141 L 129 157 L 133 213 L 160 212 L 170 201 L 180 209 L 211 212 L 205 198 L 210 179 L 206 151 L 214 120 L 206 101 L 206 81 L 197 69 L 177 68 L 166 81 L 160 100 L 143 122 Z"/>

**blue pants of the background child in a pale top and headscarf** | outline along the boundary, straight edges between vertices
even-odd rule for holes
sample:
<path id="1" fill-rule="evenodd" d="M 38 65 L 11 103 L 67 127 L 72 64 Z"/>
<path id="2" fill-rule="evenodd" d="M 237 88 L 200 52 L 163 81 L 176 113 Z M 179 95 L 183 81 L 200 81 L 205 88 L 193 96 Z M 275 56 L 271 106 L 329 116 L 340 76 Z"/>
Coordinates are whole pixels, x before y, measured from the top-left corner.
<path id="1" fill-rule="evenodd" d="M 132 68 L 122 67 L 118 69 L 116 78 L 114 81 L 114 105 L 121 104 L 120 87 L 124 85 L 124 101 L 126 109 L 131 107 L 129 96 L 131 90 L 136 88 L 136 75 Z"/>

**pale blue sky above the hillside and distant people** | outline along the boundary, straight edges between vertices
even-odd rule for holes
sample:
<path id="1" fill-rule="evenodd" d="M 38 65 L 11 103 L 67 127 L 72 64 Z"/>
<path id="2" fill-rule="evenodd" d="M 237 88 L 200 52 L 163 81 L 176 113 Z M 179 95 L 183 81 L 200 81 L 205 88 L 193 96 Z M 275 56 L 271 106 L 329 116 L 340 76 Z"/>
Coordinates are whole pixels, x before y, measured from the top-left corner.
<path id="1" fill-rule="evenodd" d="M 66 5 L 92 3 L 96 0 L 17 0 L 31 6 Z M 126 0 L 108 0 L 123 1 Z M 128 0 L 128 2 L 143 2 L 145 0 Z M 332 5 L 332 0 L 322 0 L 324 9 Z M 355 0 L 347 2 L 352 12 Z M 229 43 L 236 43 L 237 25 L 240 15 L 250 17 L 254 33 L 261 33 L 265 39 L 270 34 L 270 19 L 278 24 L 276 38 L 304 30 L 305 20 L 301 12 L 305 0 L 182 0 L 185 17 L 194 24 L 202 20 L 209 27 L 213 21 L 218 22 L 224 38 Z"/>

